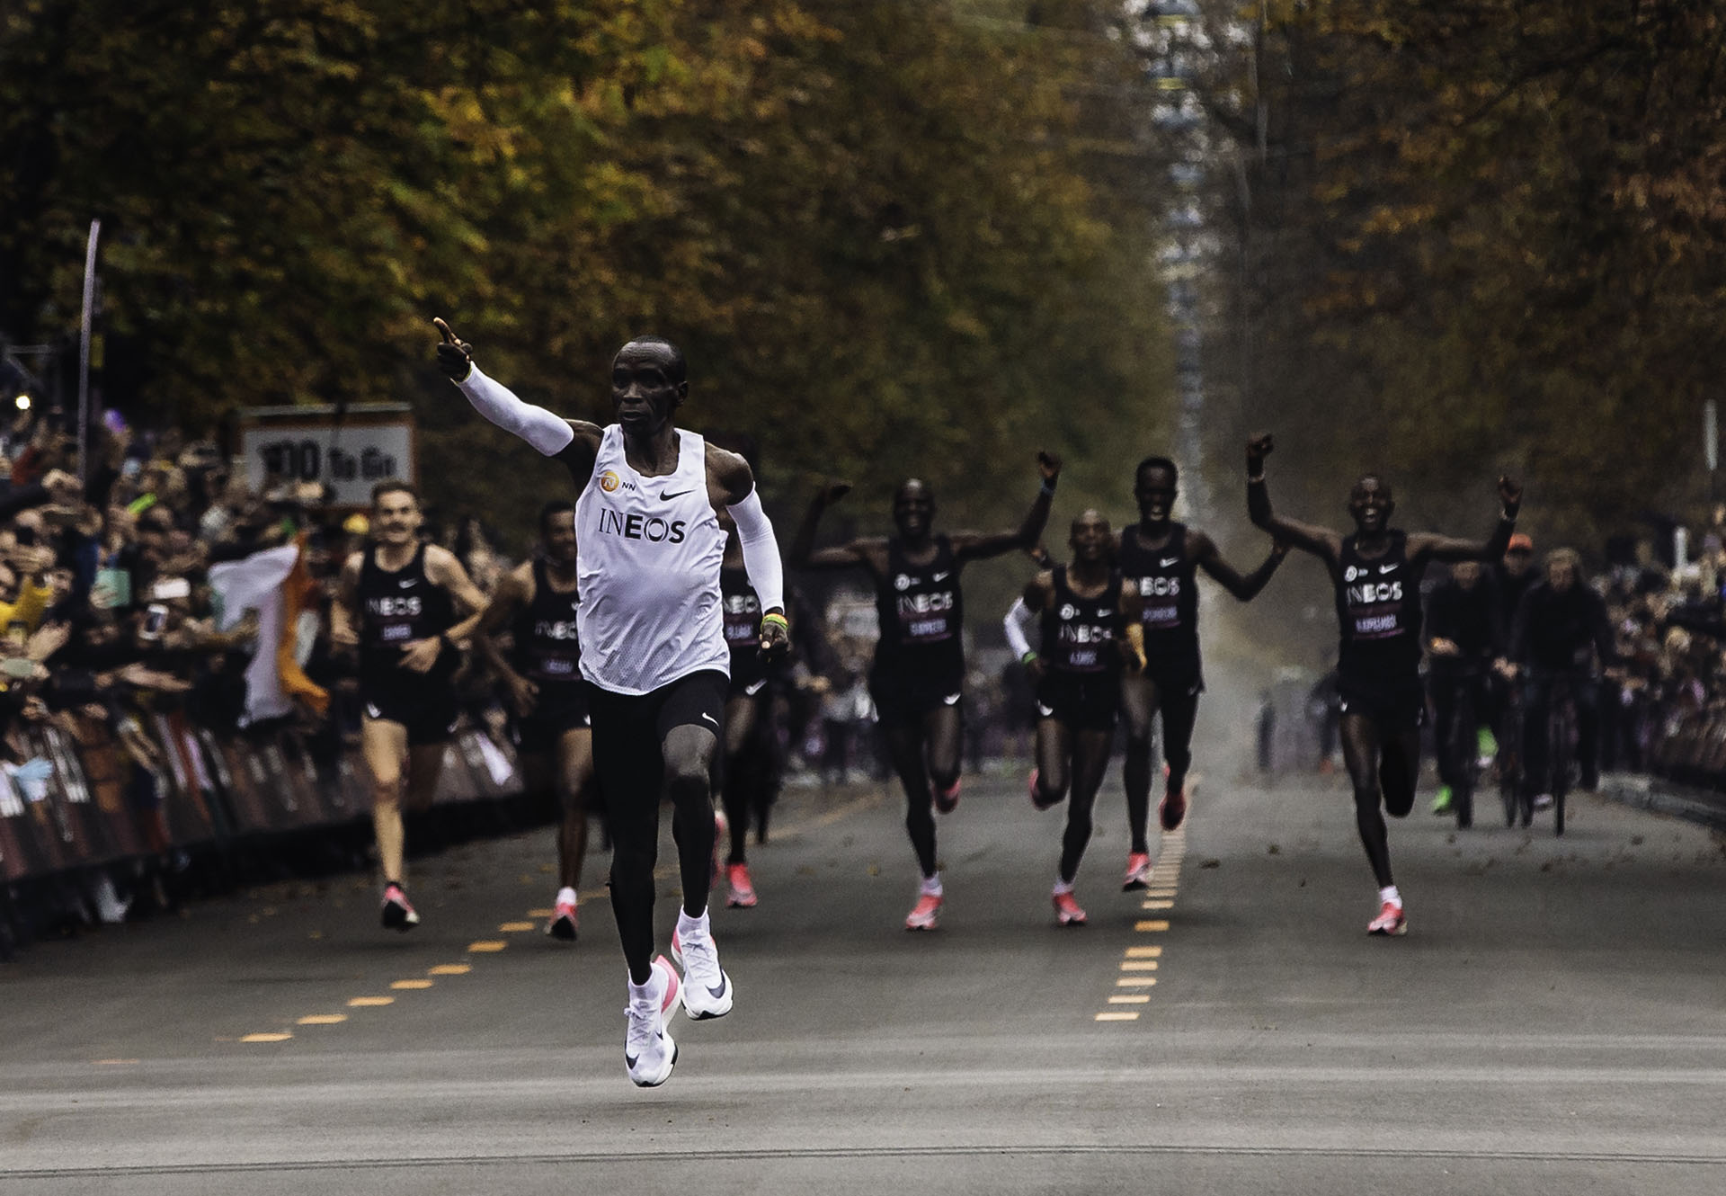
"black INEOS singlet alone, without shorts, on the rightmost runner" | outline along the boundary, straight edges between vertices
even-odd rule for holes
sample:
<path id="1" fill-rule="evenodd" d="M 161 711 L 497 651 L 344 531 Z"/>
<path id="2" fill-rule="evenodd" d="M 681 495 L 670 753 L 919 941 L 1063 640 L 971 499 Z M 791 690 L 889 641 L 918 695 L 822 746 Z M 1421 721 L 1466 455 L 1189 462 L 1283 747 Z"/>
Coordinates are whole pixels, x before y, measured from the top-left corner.
<path id="1" fill-rule="evenodd" d="M 1408 537 L 1386 532 L 1389 549 L 1367 561 L 1343 540 L 1336 621 L 1343 633 L 1338 675 L 1365 682 L 1414 682 L 1420 668 L 1420 578 L 1408 568 Z"/>

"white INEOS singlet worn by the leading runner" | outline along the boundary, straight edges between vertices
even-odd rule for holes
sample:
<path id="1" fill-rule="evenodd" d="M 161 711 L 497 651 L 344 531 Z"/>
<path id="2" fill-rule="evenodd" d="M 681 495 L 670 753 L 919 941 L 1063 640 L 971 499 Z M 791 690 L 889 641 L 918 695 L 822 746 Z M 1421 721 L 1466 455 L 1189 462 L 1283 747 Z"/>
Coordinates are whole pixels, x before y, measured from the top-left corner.
<path id="1" fill-rule="evenodd" d="M 708 445 L 683 430 L 677 445 L 677 471 L 644 478 L 611 425 L 575 502 L 582 677 L 613 694 L 651 694 L 702 670 L 730 677 Z"/>

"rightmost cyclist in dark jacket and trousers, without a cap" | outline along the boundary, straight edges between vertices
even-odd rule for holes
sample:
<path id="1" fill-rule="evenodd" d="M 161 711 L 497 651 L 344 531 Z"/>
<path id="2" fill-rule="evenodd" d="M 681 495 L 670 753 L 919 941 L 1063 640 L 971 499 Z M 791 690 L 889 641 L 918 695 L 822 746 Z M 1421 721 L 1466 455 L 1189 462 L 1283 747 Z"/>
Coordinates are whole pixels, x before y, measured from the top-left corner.
<path id="1" fill-rule="evenodd" d="M 1522 595 L 1510 625 L 1510 671 L 1522 677 L 1522 758 L 1528 763 L 1522 777 L 1536 809 L 1552 804 L 1545 733 L 1552 680 L 1571 682 L 1583 789 L 1595 789 L 1600 777 L 1595 754 L 1598 670 L 1616 663 L 1605 599 L 1583 580 L 1583 561 L 1574 549 L 1553 549 L 1546 554 L 1546 575 Z"/>

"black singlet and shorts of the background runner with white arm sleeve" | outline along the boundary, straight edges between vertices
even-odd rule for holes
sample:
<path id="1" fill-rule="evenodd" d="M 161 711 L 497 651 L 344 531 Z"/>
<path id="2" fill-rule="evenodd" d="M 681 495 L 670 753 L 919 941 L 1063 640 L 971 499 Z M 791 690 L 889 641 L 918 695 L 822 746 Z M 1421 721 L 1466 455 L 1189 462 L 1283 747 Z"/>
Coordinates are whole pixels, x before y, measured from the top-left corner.
<path id="1" fill-rule="evenodd" d="M 1043 663 L 1037 713 L 1072 730 L 1110 730 L 1120 709 L 1122 576 L 1115 570 L 1096 597 L 1079 597 L 1067 566 L 1055 568 L 1055 594 L 1043 609 Z"/>

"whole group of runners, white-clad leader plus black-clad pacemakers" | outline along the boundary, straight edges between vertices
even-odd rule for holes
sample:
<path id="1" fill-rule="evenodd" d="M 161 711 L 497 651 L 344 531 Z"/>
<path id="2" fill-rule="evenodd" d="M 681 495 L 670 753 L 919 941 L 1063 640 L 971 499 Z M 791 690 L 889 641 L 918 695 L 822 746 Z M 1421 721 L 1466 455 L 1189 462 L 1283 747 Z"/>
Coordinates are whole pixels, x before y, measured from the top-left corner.
<path id="1" fill-rule="evenodd" d="M 551 775 L 564 797 L 561 889 L 547 925 L 556 937 L 576 934 L 585 801 L 594 792 L 602 799 L 613 846 L 611 908 L 628 965 L 625 1065 L 635 1084 L 663 1084 L 677 1061 L 666 1029 L 671 1010 L 682 1003 L 690 1018 L 702 1020 L 732 1008 L 734 985 L 708 918 L 713 777 L 716 761 L 751 739 L 763 663 L 784 656 L 791 642 L 778 544 L 749 464 L 673 426 L 689 381 L 683 356 L 670 342 L 642 337 L 618 350 L 611 369 L 616 423 L 601 428 L 523 402 L 480 371 L 471 345 L 442 319 L 435 323 L 440 369 L 485 419 L 563 461 L 576 499 L 544 507 L 539 559 L 507 575 L 487 601 L 450 552 L 421 544 L 413 487 L 380 483 L 373 494 L 371 544 L 343 566 L 333 632 L 361 661 L 383 925 L 407 930 L 419 920 L 402 885 L 402 808 L 430 801 L 456 721 L 449 677 L 457 644 L 471 640 L 504 678 L 530 784 Z M 1189 740 L 1203 690 L 1196 571 L 1250 601 L 1288 549 L 1298 547 L 1319 556 L 1336 585 L 1343 754 L 1379 885 L 1381 908 L 1369 930 L 1407 930 L 1381 809 L 1403 816 L 1414 804 L 1426 709 L 1417 673 L 1420 573 L 1434 559 L 1502 557 L 1521 488 L 1498 480 L 1498 528 L 1486 542 L 1469 542 L 1389 528 L 1389 487 L 1364 476 L 1350 494 L 1355 530 L 1343 535 L 1272 513 L 1270 447 L 1270 437 L 1248 445 L 1248 513 L 1272 537 L 1270 554 L 1253 573 L 1243 576 L 1210 537 L 1172 521 L 1175 466 L 1148 457 L 1134 480 L 1139 521 L 1117 537 L 1096 511 L 1080 514 L 1072 523 L 1070 563 L 1048 563 L 1006 616 L 1008 640 L 1037 683 L 1030 801 L 1048 809 L 1067 799 L 1051 894 L 1061 925 L 1086 920 L 1074 878 L 1122 714 L 1132 830 L 1124 889 L 1146 887 L 1151 872 L 1153 714 L 1163 727 L 1160 823 L 1174 830 L 1186 815 Z M 1037 454 L 1037 469 L 1041 488 L 1013 532 L 937 533 L 934 495 L 911 480 L 894 494 L 896 535 L 816 549 L 822 513 L 849 488 L 837 483 L 815 497 L 791 551 L 794 568 L 861 568 L 875 583 L 880 640 L 870 692 L 904 785 L 904 825 L 922 870 L 908 930 L 935 928 L 942 885 L 934 811 L 951 811 L 960 801 L 960 573 L 968 561 L 1037 545 L 1060 461 Z M 1032 621 L 1041 621 L 1037 651 L 1025 635 Z M 513 633 L 507 656 L 497 645 L 506 630 Z M 666 801 L 682 880 L 671 956 L 682 972 L 654 951 L 652 873 Z M 751 906 L 756 896 L 735 849 L 737 821 L 730 903 Z"/>

